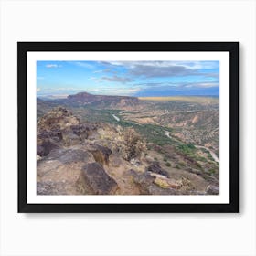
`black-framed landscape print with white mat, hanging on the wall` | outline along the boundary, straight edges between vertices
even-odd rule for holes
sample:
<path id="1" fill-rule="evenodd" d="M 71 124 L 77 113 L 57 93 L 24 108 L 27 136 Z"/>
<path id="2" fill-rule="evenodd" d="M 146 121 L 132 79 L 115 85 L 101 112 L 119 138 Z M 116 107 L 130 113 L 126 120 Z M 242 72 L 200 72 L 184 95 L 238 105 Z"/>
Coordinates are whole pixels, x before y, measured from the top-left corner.
<path id="1" fill-rule="evenodd" d="M 17 57 L 18 212 L 239 212 L 239 43 Z"/>

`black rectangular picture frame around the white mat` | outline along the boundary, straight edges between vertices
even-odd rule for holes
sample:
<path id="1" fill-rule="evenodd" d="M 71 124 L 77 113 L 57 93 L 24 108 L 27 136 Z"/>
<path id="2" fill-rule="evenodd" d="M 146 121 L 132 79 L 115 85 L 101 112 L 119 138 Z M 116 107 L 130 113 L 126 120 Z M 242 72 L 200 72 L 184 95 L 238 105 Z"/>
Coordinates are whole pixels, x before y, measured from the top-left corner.
<path id="1" fill-rule="evenodd" d="M 229 52 L 229 204 L 29 204 L 27 203 L 27 52 L 226 51 Z M 239 212 L 238 42 L 17 42 L 19 213 L 220 213 Z M 227 170 L 228 171 L 228 170 Z M 178 196 L 177 196 L 178 197 Z"/>

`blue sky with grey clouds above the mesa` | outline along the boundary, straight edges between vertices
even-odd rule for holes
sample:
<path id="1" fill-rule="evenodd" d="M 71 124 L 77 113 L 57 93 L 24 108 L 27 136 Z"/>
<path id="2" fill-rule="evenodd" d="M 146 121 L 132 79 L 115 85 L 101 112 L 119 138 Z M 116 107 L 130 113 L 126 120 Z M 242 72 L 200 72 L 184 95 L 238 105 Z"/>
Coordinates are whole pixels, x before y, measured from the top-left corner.
<path id="1" fill-rule="evenodd" d="M 37 97 L 219 96 L 219 61 L 37 61 Z"/>

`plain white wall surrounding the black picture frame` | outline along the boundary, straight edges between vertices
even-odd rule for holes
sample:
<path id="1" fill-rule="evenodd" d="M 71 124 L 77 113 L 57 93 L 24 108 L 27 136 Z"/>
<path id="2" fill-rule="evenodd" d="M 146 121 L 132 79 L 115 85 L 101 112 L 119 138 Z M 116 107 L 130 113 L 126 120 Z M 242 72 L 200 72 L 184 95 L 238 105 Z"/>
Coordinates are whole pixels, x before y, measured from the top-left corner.
<path id="1" fill-rule="evenodd" d="M 2 0 L 0 7 L 1 255 L 256 255 L 255 1 Z M 240 41 L 240 214 L 16 213 L 16 41 L 91 40 Z"/>

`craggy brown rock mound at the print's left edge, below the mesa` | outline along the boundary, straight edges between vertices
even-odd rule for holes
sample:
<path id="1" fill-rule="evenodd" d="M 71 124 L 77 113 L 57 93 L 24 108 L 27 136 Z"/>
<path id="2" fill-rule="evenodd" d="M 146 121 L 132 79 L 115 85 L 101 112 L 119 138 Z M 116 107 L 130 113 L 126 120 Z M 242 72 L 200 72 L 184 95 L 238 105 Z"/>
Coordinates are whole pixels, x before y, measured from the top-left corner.
<path id="1" fill-rule="evenodd" d="M 37 123 L 37 131 L 52 131 L 69 129 L 72 125 L 80 124 L 80 119 L 63 107 L 57 107 L 42 116 Z"/>

